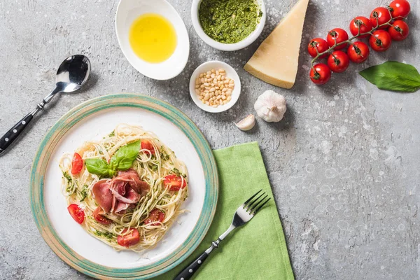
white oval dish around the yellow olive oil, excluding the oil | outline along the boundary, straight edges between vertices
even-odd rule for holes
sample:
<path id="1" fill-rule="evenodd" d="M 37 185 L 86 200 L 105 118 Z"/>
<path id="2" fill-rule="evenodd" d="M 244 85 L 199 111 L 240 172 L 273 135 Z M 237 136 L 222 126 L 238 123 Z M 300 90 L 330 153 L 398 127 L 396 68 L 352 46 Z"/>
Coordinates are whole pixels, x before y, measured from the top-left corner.
<path id="1" fill-rule="evenodd" d="M 177 44 L 174 53 L 164 62 L 150 63 L 132 50 L 128 34 L 134 20 L 144 13 L 158 13 L 174 25 Z M 169 80 L 185 68 L 190 55 L 190 39 L 186 25 L 175 8 L 165 0 L 121 0 L 116 13 L 116 34 L 128 62 L 144 76 L 155 80 Z"/>

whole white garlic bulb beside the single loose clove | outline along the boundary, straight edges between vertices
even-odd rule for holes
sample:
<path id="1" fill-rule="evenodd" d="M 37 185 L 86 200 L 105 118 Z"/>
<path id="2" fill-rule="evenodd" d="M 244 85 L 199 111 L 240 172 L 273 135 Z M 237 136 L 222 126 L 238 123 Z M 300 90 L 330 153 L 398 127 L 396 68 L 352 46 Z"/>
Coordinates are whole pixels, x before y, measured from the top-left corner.
<path id="1" fill-rule="evenodd" d="M 254 104 L 258 117 L 266 122 L 279 122 L 286 113 L 286 99 L 272 90 L 262 93 Z"/>

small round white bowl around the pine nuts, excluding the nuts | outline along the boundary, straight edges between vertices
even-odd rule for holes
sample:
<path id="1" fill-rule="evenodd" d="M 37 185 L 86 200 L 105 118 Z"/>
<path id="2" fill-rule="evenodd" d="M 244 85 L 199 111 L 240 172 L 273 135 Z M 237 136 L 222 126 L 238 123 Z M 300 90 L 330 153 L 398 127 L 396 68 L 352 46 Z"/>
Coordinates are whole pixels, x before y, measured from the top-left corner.
<path id="1" fill-rule="evenodd" d="M 217 106 L 217 108 L 213 108 L 212 106 L 203 104 L 203 102 L 200 99 L 198 99 L 197 93 L 195 93 L 195 78 L 198 78 L 200 73 L 210 71 L 211 69 L 215 69 L 215 70 L 225 69 L 226 77 L 232 78 L 235 81 L 235 87 L 232 90 L 232 99 L 227 104 L 219 105 Z M 193 72 L 193 75 L 191 75 L 190 96 L 193 99 L 195 105 L 199 106 L 200 109 L 204 111 L 207 111 L 210 113 L 220 113 L 220 112 L 226 111 L 235 105 L 235 103 L 239 99 L 240 94 L 241 94 L 241 80 L 239 79 L 238 73 L 237 71 L 235 71 L 235 69 L 233 69 L 232 66 L 230 66 L 229 64 L 225 62 L 221 62 L 218 60 L 204 62 L 203 64 L 198 66 L 197 69 L 195 69 L 195 71 Z"/>

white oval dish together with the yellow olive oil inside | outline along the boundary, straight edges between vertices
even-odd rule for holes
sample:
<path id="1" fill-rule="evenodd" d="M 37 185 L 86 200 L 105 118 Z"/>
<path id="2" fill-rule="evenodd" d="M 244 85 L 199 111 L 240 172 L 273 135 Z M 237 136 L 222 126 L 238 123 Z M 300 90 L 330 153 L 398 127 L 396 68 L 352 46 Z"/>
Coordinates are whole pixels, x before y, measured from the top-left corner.
<path id="1" fill-rule="evenodd" d="M 166 0 L 121 0 L 116 34 L 125 58 L 149 78 L 174 78 L 188 62 L 186 25 Z"/>

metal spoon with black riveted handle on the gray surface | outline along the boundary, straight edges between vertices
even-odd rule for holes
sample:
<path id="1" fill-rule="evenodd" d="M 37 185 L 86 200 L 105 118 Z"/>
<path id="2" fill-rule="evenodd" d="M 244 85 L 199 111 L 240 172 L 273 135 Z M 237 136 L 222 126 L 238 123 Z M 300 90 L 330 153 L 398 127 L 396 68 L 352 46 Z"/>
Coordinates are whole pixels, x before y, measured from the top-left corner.
<path id="1" fill-rule="evenodd" d="M 72 55 L 67 57 L 58 67 L 57 76 L 55 78 L 55 89 L 39 103 L 31 113 L 27 114 L 14 127 L 12 127 L 3 137 L 0 138 L 0 155 L 18 139 L 20 134 L 28 126 L 29 122 L 37 113 L 44 109 L 52 97 L 58 92 L 74 92 L 86 83 L 90 74 L 90 61 L 84 55 Z"/>

